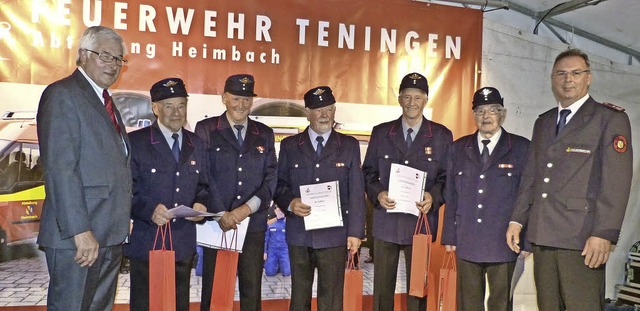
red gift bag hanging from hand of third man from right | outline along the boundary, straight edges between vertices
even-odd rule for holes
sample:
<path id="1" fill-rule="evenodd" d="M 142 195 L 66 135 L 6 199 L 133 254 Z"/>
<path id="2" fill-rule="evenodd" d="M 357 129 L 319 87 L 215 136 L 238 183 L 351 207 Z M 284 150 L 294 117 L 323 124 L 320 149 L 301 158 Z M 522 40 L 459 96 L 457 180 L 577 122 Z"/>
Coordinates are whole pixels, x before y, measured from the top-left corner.
<path id="1" fill-rule="evenodd" d="M 425 228 L 426 233 L 422 233 Z M 431 231 L 427 215 L 420 213 L 416 229 L 413 233 L 413 247 L 411 251 L 411 279 L 409 295 L 425 297 L 427 295 L 429 261 L 431 259 Z"/>

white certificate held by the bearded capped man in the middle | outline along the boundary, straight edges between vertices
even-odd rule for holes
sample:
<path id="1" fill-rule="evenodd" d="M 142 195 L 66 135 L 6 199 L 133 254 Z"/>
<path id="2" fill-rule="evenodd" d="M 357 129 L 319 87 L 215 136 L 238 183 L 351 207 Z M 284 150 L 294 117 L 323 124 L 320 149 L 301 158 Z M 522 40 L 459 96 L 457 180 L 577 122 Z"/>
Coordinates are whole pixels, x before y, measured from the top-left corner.
<path id="1" fill-rule="evenodd" d="M 304 217 L 307 231 L 342 227 L 340 188 L 338 181 L 300 186 L 302 203 L 311 206 L 311 213 Z"/>

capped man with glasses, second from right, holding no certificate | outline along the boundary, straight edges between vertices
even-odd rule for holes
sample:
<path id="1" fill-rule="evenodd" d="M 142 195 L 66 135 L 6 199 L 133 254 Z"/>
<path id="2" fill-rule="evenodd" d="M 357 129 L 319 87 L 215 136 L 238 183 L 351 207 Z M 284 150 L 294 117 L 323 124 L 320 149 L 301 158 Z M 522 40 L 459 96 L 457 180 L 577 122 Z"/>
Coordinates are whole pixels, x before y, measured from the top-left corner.
<path id="1" fill-rule="evenodd" d="M 511 311 L 518 254 L 504 244 L 504 234 L 529 140 L 502 128 L 507 110 L 497 89 L 477 90 L 472 107 L 478 130 L 453 142 L 447 153 L 442 244 L 457 255 L 458 310 L 483 311 L 488 281 L 488 310 Z"/>

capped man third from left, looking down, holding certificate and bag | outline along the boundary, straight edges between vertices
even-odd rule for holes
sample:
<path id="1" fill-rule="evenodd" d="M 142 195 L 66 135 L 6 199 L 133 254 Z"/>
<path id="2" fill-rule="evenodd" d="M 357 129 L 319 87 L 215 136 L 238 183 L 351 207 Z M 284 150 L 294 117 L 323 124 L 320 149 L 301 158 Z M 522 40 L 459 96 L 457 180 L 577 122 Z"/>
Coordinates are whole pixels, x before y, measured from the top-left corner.
<path id="1" fill-rule="evenodd" d="M 226 212 L 219 220 L 220 227 L 227 231 L 251 217 L 238 258 L 242 311 L 261 310 L 267 208 L 277 182 L 273 130 L 248 118 L 253 97 L 257 96 L 254 85 L 253 76 L 248 74 L 227 78 L 222 94 L 227 111 L 198 122 L 195 130 L 208 146 L 209 176 L 216 180 L 222 200 L 222 205 L 212 203 L 209 209 Z M 200 304 L 203 311 L 209 310 L 211 302 L 216 254 L 215 249 L 204 248 Z"/>

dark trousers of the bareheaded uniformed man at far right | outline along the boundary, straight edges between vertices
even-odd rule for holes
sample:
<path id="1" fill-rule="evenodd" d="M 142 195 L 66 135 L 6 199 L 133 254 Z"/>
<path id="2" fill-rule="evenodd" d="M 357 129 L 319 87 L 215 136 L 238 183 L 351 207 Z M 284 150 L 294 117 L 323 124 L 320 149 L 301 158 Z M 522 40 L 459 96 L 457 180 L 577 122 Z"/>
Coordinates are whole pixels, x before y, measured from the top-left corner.
<path id="1" fill-rule="evenodd" d="M 540 311 L 604 310 L 605 265 L 591 269 L 580 250 L 533 246 Z"/>

